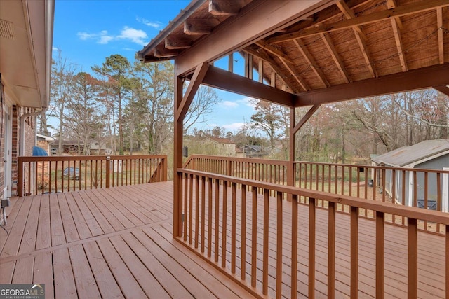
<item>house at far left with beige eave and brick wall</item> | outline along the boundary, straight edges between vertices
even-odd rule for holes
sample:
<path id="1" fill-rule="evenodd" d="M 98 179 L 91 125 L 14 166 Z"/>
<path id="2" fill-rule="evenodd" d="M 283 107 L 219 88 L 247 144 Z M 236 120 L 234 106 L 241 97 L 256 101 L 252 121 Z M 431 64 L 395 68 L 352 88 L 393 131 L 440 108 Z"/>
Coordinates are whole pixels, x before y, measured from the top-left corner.
<path id="1" fill-rule="evenodd" d="M 32 155 L 48 107 L 53 18 L 53 0 L 0 1 L 1 199 L 17 193 L 18 156 Z"/>

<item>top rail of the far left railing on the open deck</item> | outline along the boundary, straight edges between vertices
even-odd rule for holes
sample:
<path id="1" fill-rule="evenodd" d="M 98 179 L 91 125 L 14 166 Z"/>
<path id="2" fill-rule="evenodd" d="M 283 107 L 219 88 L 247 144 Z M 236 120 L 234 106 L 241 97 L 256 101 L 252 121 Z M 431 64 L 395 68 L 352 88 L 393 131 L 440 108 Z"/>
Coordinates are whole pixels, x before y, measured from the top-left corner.
<path id="1" fill-rule="evenodd" d="M 166 159 L 167 155 L 58 155 L 58 156 L 20 156 L 21 162 L 36 161 L 91 161 L 91 160 L 135 160 Z"/>

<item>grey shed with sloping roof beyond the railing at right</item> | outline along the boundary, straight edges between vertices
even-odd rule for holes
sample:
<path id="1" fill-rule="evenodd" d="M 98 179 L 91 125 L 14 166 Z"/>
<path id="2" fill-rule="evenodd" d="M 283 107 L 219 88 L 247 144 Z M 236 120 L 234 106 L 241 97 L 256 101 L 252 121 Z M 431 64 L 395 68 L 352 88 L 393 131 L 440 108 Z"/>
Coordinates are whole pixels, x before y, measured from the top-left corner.
<path id="1" fill-rule="evenodd" d="M 449 139 L 427 140 L 413 146 L 403 146 L 389 153 L 377 155 L 372 161 L 373 165 L 377 166 L 449 170 Z M 387 190 L 387 193 L 390 196 L 394 194 L 396 202 L 408 206 L 413 205 L 413 188 L 415 186 L 411 172 L 406 172 L 405 175 L 406 186 L 408 188 L 405 190 L 406 196 L 404 198 L 402 198 L 402 190 L 399 190 L 399 186 L 402 186 L 402 172 L 395 172 L 396 190 L 392 190 L 392 175 L 393 172 L 387 169 L 385 172 L 385 190 Z M 448 174 L 441 175 L 440 183 L 443 211 L 448 211 L 448 181 Z M 436 183 L 436 174 L 429 173 L 427 179 L 428 190 L 437 190 Z M 418 205 L 422 205 L 424 200 L 424 174 L 417 174 L 416 185 Z M 434 208 L 433 204 L 435 204 L 437 196 L 436 192 L 429 191 L 427 194 L 429 201 L 428 207 Z"/>

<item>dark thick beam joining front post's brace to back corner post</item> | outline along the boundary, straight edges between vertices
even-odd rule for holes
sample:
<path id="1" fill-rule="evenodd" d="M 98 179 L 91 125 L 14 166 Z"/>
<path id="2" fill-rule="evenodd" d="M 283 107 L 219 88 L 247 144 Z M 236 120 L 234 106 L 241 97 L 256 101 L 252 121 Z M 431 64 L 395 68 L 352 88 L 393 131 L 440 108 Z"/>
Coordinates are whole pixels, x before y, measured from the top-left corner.
<path id="1" fill-rule="evenodd" d="M 208 68 L 202 84 L 288 107 L 292 107 L 298 99 L 296 95 L 290 92 L 272 88 L 217 67 Z"/>

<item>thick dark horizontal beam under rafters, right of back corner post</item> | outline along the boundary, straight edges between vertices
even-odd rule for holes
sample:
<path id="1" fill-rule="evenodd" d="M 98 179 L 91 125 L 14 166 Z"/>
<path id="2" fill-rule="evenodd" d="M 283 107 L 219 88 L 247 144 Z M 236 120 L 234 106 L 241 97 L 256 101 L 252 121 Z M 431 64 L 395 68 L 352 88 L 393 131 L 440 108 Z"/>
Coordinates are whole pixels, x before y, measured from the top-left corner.
<path id="1" fill-rule="evenodd" d="M 361 99 L 375 95 L 387 95 L 394 92 L 419 90 L 432 86 L 449 85 L 449 63 L 413 69 L 405 73 L 396 73 L 378 78 L 370 78 L 348 84 L 335 85 L 298 94 L 295 106 L 309 106 L 331 102 Z"/>

